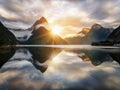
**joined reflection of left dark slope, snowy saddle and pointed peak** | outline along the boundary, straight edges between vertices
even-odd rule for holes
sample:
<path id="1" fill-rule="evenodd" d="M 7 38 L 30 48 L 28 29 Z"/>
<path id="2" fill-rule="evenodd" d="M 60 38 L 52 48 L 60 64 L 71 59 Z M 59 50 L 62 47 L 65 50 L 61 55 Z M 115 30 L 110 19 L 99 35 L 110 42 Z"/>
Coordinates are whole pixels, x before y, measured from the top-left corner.
<path id="1" fill-rule="evenodd" d="M 61 49 L 49 47 L 1 47 L 0 49 L 2 51 L 0 52 L 0 67 L 9 61 L 9 59 L 10 61 L 27 60 L 30 61 L 35 66 L 35 68 L 41 72 L 45 72 L 47 69 L 47 65 L 44 65 L 44 63 L 61 52 Z"/>

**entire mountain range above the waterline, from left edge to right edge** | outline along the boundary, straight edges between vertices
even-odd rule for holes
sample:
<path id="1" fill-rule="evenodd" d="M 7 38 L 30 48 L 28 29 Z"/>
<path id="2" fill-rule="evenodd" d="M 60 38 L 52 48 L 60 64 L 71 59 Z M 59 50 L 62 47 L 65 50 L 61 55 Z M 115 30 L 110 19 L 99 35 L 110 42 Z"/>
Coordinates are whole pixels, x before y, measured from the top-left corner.
<path id="1" fill-rule="evenodd" d="M 17 37 L 16 34 L 22 35 L 22 37 L 21 36 Z M 51 34 L 48 22 L 44 17 L 38 19 L 30 28 L 25 30 L 6 28 L 0 22 L 0 45 L 14 45 L 14 44 L 114 45 L 119 43 L 120 43 L 120 26 L 114 30 L 113 28 L 105 28 L 100 24 L 94 24 L 91 28 L 83 28 L 80 32 L 62 39 L 58 35 Z"/>

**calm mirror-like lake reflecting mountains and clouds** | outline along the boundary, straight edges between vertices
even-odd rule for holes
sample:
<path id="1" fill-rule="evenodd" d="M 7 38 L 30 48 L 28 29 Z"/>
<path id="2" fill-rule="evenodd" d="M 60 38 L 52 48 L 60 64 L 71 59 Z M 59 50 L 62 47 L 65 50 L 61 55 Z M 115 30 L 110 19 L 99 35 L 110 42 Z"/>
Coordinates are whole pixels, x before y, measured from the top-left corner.
<path id="1" fill-rule="evenodd" d="M 17 46 L 0 60 L 0 90 L 120 90 L 119 47 Z"/>

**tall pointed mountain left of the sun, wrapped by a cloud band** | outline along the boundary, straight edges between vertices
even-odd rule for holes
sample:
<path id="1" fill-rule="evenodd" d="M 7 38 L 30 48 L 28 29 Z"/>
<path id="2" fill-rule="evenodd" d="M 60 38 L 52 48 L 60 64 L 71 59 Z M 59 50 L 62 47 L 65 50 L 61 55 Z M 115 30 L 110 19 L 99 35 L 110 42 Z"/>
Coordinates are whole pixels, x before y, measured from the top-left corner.
<path id="1" fill-rule="evenodd" d="M 51 34 L 50 30 L 48 30 L 48 22 L 44 17 L 41 17 L 37 20 L 32 28 L 32 35 L 26 41 L 23 42 L 25 44 L 67 44 L 64 39 L 62 39 L 58 35 Z"/>

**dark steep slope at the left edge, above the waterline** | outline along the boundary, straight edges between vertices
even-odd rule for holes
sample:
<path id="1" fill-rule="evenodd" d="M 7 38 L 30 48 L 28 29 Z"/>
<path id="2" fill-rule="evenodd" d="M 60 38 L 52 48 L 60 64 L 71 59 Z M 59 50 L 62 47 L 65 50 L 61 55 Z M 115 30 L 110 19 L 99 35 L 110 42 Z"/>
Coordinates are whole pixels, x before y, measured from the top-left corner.
<path id="1" fill-rule="evenodd" d="M 0 22 L 0 46 L 1 45 L 16 45 L 15 36 Z"/>

